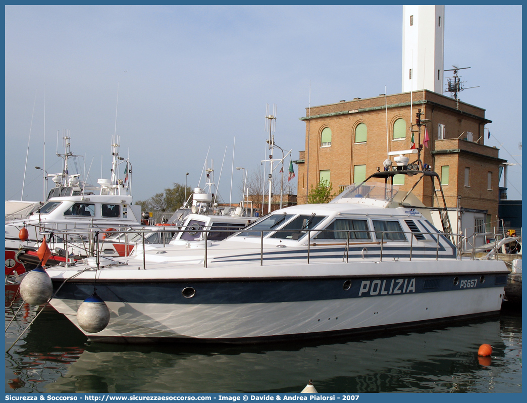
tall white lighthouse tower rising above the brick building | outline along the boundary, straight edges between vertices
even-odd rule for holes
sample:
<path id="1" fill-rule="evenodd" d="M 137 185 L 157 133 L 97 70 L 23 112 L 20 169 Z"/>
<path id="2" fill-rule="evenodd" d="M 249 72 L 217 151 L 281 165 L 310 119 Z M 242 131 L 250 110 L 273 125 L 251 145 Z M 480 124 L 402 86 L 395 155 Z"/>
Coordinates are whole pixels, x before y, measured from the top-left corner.
<path id="1" fill-rule="evenodd" d="M 403 91 L 443 93 L 445 6 L 403 6 Z"/>

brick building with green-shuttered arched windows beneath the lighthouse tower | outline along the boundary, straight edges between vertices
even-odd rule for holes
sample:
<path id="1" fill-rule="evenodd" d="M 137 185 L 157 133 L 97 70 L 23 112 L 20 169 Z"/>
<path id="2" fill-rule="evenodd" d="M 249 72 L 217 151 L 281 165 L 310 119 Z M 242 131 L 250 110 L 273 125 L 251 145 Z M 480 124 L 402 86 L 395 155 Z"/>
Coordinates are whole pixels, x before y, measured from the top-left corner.
<path id="1" fill-rule="evenodd" d="M 497 220 L 499 150 L 484 145 L 485 110 L 459 100 L 419 90 L 374 98 L 320 105 L 306 109 L 306 148 L 298 165 L 298 203 L 306 203 L 311 186 L 328 180 L 333 190 L 360 183 L 394 151 L 411 148 L 412 123 L 421 109 L 425 126 L 413 127 L 421 161 L 441 177 L 447 207 L 482 213 L 484 222 Z M 425 143 L 425 128 L 429 141 Z M 390 156 L 389 153 L 392 152 Z M 417 155 L 410 154 L 410 162 Z M 395 165 L 395 164 L 394 164 Z M 394 184 L 409 190 L 412 177 L 396 177 Z M 413 193 L 427 206 L 437 206 L 429 181 Z M 434 204 L 435 203 L 435 204 Z M 477 225 L 477 224 L 476 224 Z M 457 228 L 461 228 L 457 226 Z"/>

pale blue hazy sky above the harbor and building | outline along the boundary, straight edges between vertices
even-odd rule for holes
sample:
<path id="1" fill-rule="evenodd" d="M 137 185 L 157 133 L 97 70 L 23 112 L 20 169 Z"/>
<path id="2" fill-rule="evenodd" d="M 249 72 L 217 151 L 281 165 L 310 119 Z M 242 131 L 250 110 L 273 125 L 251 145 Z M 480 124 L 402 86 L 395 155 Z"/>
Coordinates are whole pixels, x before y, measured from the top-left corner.
<path id="1" fill-rule="evenodd" d="M 42 200 L 35 166 L 45 153 L 61 171 L 64 133 L 87 181 L 109 178 L 116 134 L 134 200 L 203 187 L 207 160 L 238 203 L 231 168 L 261 169 L 268 104 L 295 160 L 309 105 L 402 91 L 402 18 L 399 5 L 6 6 L 5 198 Z M 514 164 L 508 198 L 521 199 L 522 8 L 446 5 L 444 24 L 444 68 L 470 67 L 460 100 L 486 110 L 485 145 Z"/>

